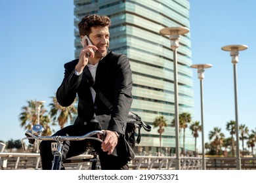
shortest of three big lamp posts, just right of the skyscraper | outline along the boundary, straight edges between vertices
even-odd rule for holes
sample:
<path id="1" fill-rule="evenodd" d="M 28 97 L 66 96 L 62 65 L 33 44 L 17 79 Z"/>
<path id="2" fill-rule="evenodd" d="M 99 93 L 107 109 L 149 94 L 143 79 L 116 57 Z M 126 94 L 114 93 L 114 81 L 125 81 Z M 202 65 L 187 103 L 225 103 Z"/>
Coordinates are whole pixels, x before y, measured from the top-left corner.
<path id="1" fill-rule="evenodd" d="M 204 69 L 213 67 L 211 64 L 194 64 L 190 67 L 198 69 L 198 78 L 200 79 L 200 93 L 201 93 L 201 123 L 202 123 L 202 155 L 203 155 L 203 163 L 202 169 L 206 169 L 205 165 L 205 146 L 204 146 L 204 134 L 203 134 L 203 78 L 204 78 Z"/>

